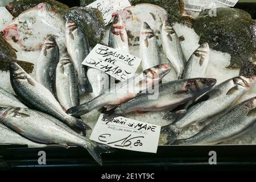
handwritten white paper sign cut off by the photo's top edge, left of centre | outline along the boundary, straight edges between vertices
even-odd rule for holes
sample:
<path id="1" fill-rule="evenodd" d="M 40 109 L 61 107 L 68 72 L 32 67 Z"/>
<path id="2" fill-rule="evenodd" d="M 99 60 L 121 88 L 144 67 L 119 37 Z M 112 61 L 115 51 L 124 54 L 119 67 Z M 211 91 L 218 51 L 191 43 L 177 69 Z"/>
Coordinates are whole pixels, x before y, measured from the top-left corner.
<path id="1" fill-rule="evenodd" d="M 101 11 L 105 26 L 112 22 L 112 14 L 131 6 L 129 0 L 97 0 L 86 7 Z"/>

